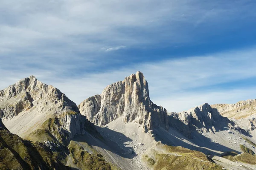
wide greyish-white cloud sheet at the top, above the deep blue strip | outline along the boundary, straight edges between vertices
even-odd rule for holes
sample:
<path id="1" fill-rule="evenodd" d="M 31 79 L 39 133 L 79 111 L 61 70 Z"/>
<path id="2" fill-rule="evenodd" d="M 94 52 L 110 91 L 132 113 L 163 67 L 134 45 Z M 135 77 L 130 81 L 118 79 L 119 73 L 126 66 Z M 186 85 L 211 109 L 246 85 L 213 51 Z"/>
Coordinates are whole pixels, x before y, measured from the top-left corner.
<path id="1" fill-rule="evenodd" d="M 198 43 L 202 33 L 218 34 L 229 29 L 227 22 L 255 17 L 250 8 L 244 1 L 1 0 L 0 55 L 87 53 L 108 46 L 111 51 L 119 44 L 137 47 L 162 40 Z"/>

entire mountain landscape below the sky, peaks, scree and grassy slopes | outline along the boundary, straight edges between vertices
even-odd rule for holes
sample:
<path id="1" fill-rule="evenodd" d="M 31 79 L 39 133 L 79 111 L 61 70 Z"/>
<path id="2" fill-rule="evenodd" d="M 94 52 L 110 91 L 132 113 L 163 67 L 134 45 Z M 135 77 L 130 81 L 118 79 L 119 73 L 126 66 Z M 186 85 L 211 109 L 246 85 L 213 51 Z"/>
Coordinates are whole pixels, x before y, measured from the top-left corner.
<path id="1" fill-rule="evenodd" d="M 1 170 L 256 170 L 256 100 L 175 113 L 141 72 L 79 105 L 34 76 L 0 91 Z"/>

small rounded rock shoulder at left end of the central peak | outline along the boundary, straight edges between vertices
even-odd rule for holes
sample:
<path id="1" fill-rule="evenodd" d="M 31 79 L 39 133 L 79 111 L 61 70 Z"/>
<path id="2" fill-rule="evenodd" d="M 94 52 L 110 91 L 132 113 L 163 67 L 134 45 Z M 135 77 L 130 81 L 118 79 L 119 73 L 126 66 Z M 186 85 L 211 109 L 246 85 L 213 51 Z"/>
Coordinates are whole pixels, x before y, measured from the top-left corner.
<path id="1" fill-rule="evenodd" d="M 79 111 L 86 116 L 89 121 L 93 121 L 94 116 L 99 112 L 101 104 L 101 96 L 95 95 L 81 102 L 78 105 Z"/>

